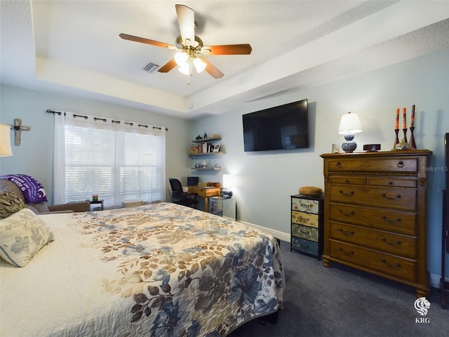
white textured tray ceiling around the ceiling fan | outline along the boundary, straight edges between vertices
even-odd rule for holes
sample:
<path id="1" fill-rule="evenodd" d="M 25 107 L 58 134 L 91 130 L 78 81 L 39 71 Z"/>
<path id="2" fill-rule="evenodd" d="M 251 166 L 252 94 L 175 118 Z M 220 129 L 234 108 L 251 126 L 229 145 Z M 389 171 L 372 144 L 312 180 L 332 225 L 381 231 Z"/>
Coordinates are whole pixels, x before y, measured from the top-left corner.
<path id="1" fill-rule="evenodd" d="M 186 1 L 225 77 L 149 74 L 174 51 L 176 1 L 1 0 L 1 82 L 194 118 L 449 48 L 449 1 Z"/>

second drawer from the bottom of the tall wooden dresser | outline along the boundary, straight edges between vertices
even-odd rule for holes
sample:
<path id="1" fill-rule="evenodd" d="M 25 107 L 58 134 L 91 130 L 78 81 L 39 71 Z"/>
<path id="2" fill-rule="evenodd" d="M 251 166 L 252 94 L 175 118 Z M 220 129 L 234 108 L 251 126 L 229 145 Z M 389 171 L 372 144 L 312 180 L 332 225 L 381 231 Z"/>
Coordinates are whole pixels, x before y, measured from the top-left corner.
<path id="1" fill-rule="evenodd" d="M 333 223 L 330 221 L 330 238 L 351 244 L 379 249 L 406 258 L 415 258 L 416 238 L 405 235 L 370 230 L 366 227 Z"/>

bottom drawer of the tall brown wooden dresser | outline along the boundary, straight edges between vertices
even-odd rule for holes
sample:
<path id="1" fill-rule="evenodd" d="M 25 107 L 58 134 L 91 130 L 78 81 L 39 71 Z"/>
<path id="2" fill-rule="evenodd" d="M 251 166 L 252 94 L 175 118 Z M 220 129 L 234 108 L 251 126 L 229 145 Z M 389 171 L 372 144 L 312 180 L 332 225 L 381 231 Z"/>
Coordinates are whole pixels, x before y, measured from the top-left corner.
<path id="1" fill-rule="evenodd" d="M 363 248 L 344 242 L 329 240 L 330 256 L 342 261 L 366 267 L 377 272 L 398 277 L 407 281 L 415 281 L 416 261 L 408 258 L 392 256 L 387 253 Z"/>

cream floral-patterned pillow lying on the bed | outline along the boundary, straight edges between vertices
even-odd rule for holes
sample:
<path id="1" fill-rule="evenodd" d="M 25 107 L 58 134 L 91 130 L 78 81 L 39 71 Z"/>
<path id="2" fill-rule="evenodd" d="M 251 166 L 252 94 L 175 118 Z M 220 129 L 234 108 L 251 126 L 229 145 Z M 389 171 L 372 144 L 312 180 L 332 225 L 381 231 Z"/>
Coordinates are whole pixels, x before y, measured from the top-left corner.
<path id="1" fill-rule="evenodd" d="M 29 209 L 0 220 L 0 256 L 16 267 L 25 267 L 48 242 L 53 232 Z"/>

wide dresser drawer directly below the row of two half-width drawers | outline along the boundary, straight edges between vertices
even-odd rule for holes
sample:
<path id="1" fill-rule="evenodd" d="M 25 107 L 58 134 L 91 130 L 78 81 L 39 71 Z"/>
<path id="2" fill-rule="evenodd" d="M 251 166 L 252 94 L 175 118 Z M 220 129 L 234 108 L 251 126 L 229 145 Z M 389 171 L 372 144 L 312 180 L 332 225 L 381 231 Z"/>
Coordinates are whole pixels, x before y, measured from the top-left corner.
<path id="1" fill-rule="evenodd" d="M 416 209 L 416 190 L 330 184 L 330 201 L 389 209 Z"/>

